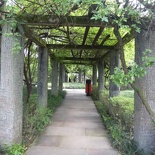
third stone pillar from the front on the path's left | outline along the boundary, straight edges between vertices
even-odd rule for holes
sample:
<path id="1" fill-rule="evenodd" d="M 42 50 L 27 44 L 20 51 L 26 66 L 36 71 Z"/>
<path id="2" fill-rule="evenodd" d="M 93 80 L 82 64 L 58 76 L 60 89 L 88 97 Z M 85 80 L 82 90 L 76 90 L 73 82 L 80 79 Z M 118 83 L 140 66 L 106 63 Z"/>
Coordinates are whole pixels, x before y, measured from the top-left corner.
<path id="1" fill-rule="evenodd" d="M 52 60 L 52 89 L 53 95 L 58 95 L 58 61 Z"/>

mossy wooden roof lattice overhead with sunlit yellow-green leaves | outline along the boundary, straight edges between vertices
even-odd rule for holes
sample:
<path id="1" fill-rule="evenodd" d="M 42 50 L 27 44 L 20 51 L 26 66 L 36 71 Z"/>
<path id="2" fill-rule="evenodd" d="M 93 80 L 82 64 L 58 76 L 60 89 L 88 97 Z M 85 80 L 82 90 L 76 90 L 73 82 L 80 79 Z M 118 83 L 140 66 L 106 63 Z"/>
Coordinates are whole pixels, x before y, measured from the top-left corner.
<path id="1" fill-rule="evenodd" d="M 111 35 L 113 25 L 91 19 L 91 9 L 84 16 L 27 15 L 25 35 L 64 63 L 95 63 L 118 49 L 118 41 Z M 124 44 L 133 39 L 132 31 L 123 34 Z M 109 44 L 110 42 L 110 44 Z"/>

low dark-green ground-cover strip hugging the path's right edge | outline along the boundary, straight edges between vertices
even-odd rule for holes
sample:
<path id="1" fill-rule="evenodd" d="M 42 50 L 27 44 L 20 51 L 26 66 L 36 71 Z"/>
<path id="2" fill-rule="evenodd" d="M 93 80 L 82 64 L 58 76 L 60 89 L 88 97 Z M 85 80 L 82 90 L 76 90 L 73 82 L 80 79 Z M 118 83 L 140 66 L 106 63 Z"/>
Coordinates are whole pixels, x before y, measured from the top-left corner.
<path id="1" fill-rule="evenodd" d="M 120 119 L 113 119 L 113 116 L 108 113 L 107 106 L 103 104 L 103 102 L 95 101 L 95 105 L 103 118 L 112 145 L 116 147 L 122 155 L 142 155 L 142 152 L 136 148 L 132 134 L 126 130 Z"/>

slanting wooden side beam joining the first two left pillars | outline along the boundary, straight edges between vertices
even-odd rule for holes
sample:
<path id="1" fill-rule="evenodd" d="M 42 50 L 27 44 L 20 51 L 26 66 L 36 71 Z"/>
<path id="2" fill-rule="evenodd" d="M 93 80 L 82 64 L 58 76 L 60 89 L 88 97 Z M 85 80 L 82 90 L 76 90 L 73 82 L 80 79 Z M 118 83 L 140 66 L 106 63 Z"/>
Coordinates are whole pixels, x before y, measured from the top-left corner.
<path id="1" fill-rule="evenodd" d="M 34 34 L 30 28 L 28 28 L 26 25 L 23 25 L 25 36 L 29 39 L 31 39 L 34 43 L 41 47 L 46 47 L 46 42 L 41 39 L 38 35 Z"/>

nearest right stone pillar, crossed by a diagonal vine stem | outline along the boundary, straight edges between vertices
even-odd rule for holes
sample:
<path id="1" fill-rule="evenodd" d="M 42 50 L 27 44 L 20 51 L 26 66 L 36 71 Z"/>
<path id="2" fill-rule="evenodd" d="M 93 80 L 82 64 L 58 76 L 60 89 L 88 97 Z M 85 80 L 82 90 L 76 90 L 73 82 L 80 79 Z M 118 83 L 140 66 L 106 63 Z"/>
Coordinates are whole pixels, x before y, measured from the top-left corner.
<path id="1" fill-rule="evenodd" d="M 155 57 L 155 31 L 141 29 L 136 34 L 136 55 L 135 61 L 142 64 L 142 55 L 146 49 L 151 49 L 151 57 Z M 155 65 L 147 68 L 147 74 L 143 78 L 136 78 L 136 86 L 146 98 L 146 101 L 155 112 Z M 141 99 L 135 92 L 135 112 L 134 112 L 134 140 L 140 149 L 144 149 L 147 154 L 155 152 L 155 125 L 150 115 L 142 104 Z"/>

